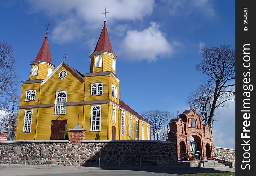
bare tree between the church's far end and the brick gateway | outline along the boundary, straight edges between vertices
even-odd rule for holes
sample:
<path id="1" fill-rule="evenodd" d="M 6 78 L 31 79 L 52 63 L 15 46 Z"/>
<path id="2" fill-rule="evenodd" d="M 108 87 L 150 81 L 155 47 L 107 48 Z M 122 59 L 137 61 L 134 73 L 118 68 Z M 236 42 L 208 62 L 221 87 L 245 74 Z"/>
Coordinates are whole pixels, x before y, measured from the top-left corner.
<path id="1" fill-rule="evenodd" d="M 143 111 L 142 116 L 151 123 L 151 133 L 154 140 L 166 140 L 169 132 L 168 122 L 172 114 L 168 111 L 149 110 Z M 163 131 L 164 130 L 164 131 Z"/>

